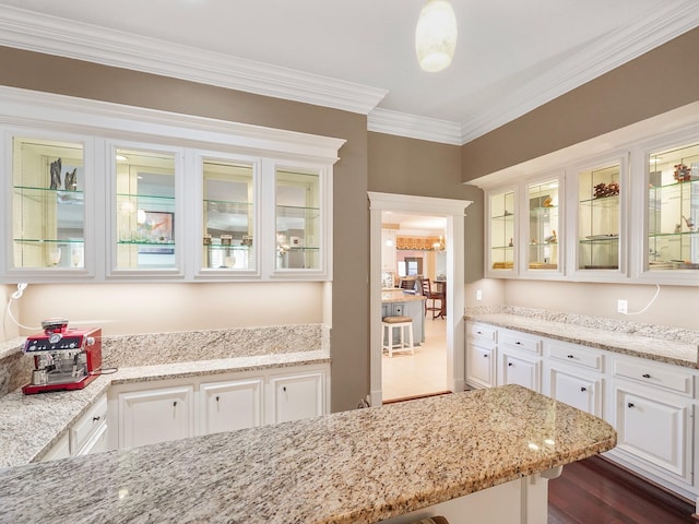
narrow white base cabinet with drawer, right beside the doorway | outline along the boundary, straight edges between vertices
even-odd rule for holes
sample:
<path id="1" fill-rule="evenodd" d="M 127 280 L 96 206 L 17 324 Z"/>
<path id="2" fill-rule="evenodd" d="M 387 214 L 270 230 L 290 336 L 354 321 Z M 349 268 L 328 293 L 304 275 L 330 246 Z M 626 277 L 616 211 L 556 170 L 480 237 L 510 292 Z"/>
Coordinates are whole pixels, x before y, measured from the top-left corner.
<path id="1" fill-rule="evenodd" d="M 466 322 L 466 383 L 472 388 L 496 384 L 497 330 Z"/>

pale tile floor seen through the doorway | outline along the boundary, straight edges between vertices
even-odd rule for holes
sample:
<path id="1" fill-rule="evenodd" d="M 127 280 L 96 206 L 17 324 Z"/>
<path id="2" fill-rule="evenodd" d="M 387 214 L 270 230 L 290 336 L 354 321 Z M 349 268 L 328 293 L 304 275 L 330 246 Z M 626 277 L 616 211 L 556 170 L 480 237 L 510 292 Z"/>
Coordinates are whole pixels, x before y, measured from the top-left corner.
<path id="1" fill-rule="evenodd" d="M 381 357 L 383 401 L 447 391 L 447 322 L 425 319 L 425 342 L 410 353 Z"/>

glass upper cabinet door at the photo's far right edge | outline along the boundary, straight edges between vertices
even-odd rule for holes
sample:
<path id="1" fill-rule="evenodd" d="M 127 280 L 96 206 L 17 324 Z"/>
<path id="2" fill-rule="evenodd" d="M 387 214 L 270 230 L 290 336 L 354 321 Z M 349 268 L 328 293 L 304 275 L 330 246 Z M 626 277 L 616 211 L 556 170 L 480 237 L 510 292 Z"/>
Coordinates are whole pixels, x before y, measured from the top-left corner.
<path id="1" fill-rule="evenodd" d="M 699 144 L 648 159 L 650 271 L 699 270 Z"/>

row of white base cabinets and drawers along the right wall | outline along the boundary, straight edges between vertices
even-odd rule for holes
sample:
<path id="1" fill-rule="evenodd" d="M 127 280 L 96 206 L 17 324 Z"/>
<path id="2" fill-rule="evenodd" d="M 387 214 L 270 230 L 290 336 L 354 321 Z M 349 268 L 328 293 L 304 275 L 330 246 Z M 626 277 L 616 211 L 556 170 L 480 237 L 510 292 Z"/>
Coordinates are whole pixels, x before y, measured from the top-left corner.
<path id="1" fill-rule="evenodd" d="M 479 322 L 469 321 L 466 330 L 470 385 L 487 386 L 477 358 L 484 348 L 498 354 L 498 385 L 536 389 L 543 366 L 544 394 L 603 417 L 617 430 L 617 446 L 606 456 L 685 498 L 699 497 L 699 372 Z"/>

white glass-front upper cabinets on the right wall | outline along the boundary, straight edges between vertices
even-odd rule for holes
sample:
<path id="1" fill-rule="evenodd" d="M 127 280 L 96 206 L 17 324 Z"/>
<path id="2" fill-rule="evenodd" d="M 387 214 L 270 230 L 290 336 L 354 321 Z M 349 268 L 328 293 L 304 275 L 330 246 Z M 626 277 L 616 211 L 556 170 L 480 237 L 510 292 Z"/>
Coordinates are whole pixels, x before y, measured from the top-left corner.
<path id="1" fill-rule="evenodd" d="M 699 285 L 699 126 L 550 158 L 482 180 L 486 276 Z"/>

